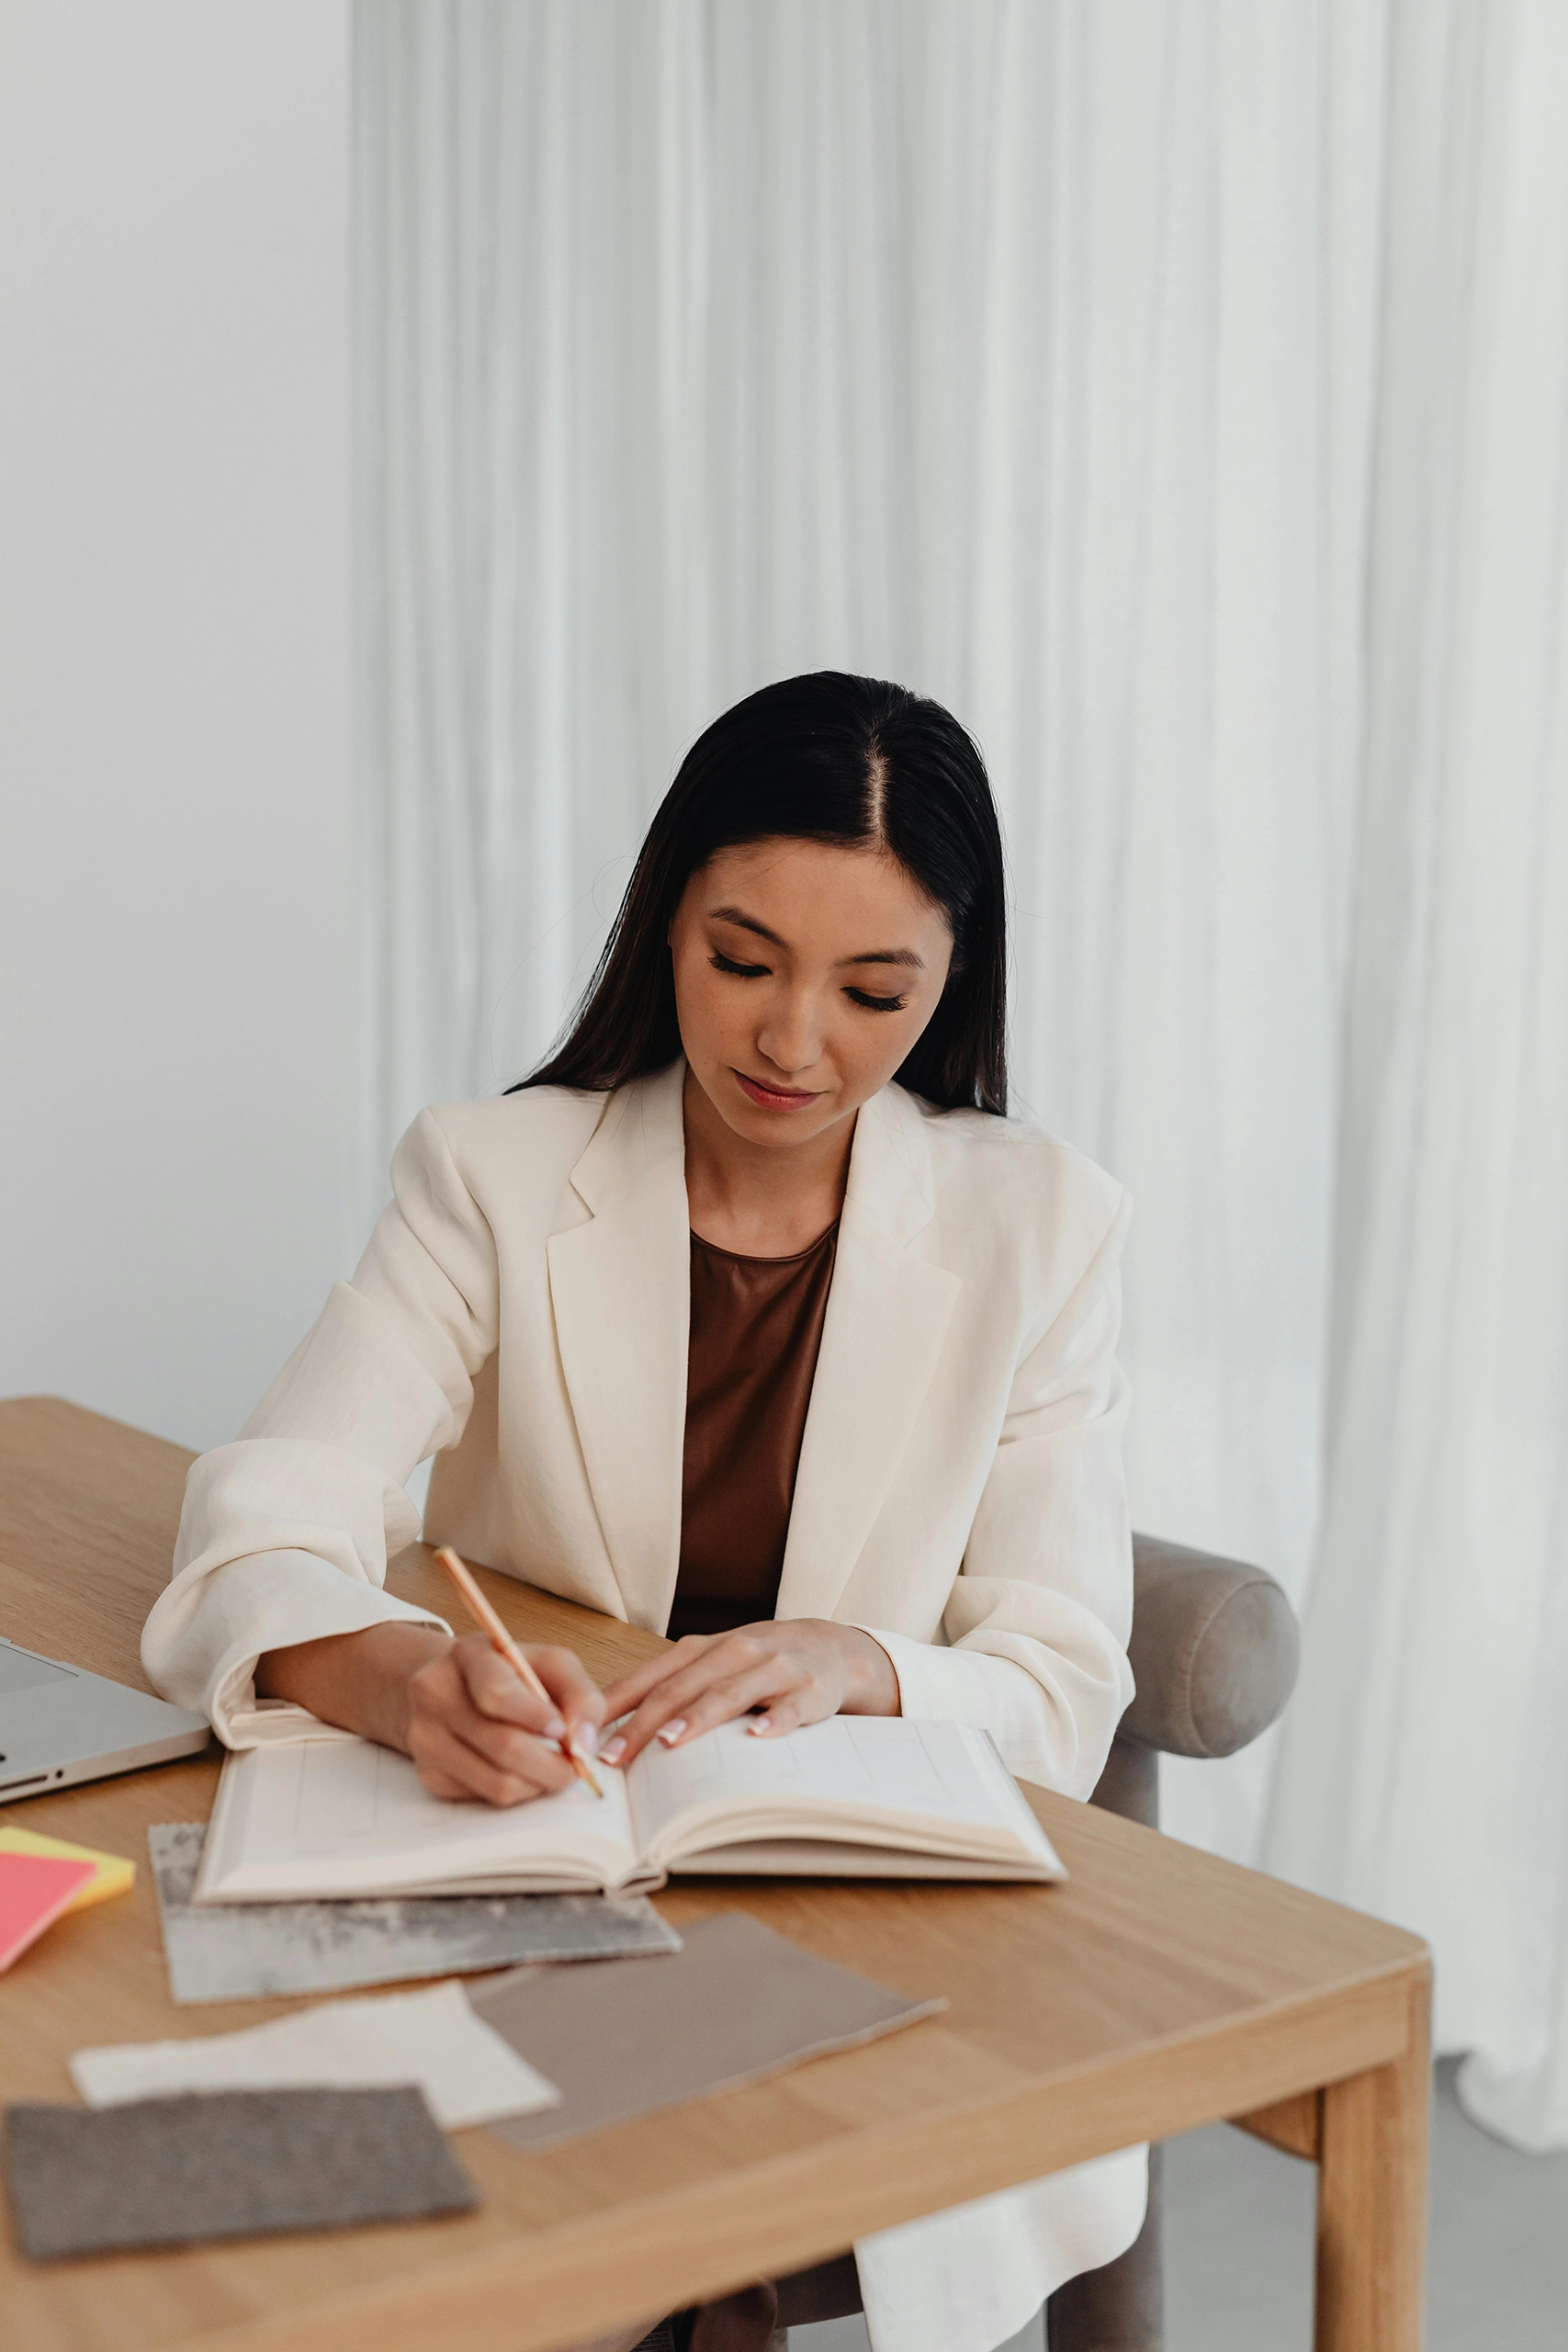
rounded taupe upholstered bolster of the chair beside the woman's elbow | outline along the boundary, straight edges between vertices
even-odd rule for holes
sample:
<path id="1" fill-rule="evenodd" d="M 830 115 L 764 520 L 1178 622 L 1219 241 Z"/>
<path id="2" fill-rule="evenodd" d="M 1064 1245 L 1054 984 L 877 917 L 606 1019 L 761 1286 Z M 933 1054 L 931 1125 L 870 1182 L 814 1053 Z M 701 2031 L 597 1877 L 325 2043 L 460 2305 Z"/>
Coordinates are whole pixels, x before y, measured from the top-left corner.
<path id="1" fill-rule="evenodd" d="M 1295 1611 L 1262 1569 L 1133 1536 L 1128 1658 L 1138 1696 L 1121 1738 L 1178 1757 L 1227 1757 L 1267 1731 L 1291 1696 Z"/>

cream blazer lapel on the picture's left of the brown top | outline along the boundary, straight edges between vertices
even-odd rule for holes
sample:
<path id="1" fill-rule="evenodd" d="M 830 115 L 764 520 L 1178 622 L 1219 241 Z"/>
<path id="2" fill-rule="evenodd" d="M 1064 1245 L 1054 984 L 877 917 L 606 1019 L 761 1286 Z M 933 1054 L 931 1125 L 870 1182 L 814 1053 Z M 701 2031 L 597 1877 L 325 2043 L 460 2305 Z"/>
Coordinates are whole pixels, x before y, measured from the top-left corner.
<path id="1" fill-rule="evenodd" d="M 611 1096 L 571 1183 L 588 1223 L 550 1235 L 567 1395 L 632 1625 L 663 1630 L 679 1566 L 691 1242 L 684 1061 Z"/>

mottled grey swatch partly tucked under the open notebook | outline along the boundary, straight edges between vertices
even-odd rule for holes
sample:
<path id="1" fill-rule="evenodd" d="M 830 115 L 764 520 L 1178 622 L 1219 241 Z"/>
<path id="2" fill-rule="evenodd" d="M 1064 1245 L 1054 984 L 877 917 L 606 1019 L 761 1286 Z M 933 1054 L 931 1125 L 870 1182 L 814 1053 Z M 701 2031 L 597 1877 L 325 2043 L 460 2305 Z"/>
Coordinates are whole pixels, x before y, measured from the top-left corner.
<path id="1" fill-rule="evenodd" d="M 148 1830 L 169 1992 L 183 2004 L 470 1976 L 520 1959 L 679 1952 L 679 1936 L 642 1896 L 409 1896 L 195 1907 L 190 1889 L 205 1837 L 200 1820 Z"/>

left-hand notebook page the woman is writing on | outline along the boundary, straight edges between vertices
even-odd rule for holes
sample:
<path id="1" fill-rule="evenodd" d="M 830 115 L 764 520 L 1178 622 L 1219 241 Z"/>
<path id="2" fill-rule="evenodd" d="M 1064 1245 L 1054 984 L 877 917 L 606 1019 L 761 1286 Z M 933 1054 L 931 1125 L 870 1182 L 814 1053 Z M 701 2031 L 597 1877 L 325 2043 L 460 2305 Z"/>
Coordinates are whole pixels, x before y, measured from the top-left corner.
<path id="1" fill-rule="evenodd" d="M 583 1863 L 630 1867 L 625 1792 L 574 1780 L 555 1797 L 498 1809 L 447 1804 L 409 1757 L 374 1740 L 252 1748 L 223 1766 L 214 1835 L 195 1900 L 223 1893 L 350 1896 Z"/>

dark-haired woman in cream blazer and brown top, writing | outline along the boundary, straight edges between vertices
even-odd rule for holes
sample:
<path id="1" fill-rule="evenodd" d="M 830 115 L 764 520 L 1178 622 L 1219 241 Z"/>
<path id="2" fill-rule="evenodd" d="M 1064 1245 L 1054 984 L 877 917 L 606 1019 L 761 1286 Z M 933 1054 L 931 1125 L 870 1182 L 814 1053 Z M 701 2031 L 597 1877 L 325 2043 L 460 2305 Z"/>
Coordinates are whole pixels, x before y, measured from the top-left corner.
<path id="1" fill-rule="evenodd" d="M 421 1112 L 355 1279 L 193 1468 L 158 1689 L 230 1745 L 324 1717 L 489 1804 L 564 1783 L 562 1729 L 616 1724 L 628 1764 L 835 1710 L 980 1724 L 1086 1797 L 1131 1698 L 1126 1202 L 1006 1120 L 1004 983 L 997 814 L 943 708 L 823 673 L 719 717 L 567 1042 Z M 550 1712 L 393 1599 L 430 1454 L 430 1541 L 675 1649 L 607 1691 L 531 1651 Z M 867 2239 L 872 2343 L 990 2352 L 1140 2218 L 1131 2152 Z"/>

